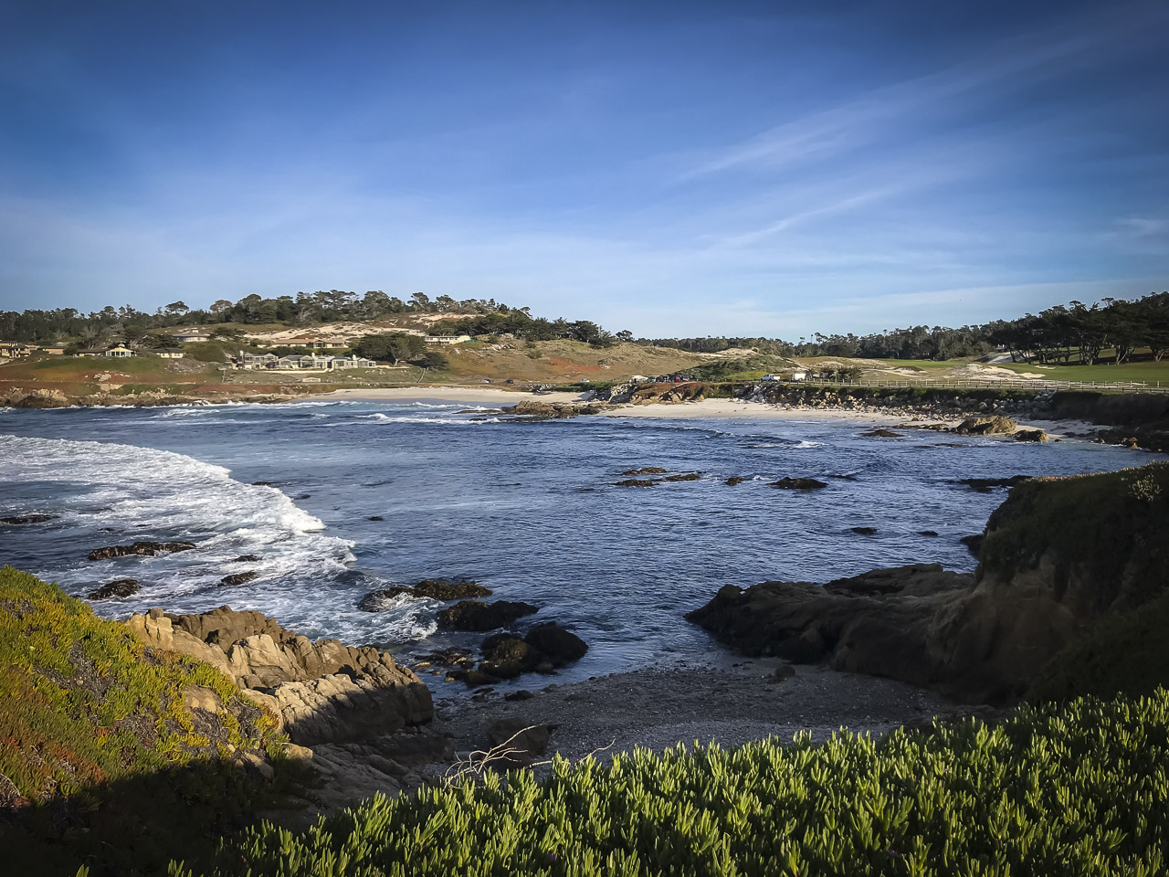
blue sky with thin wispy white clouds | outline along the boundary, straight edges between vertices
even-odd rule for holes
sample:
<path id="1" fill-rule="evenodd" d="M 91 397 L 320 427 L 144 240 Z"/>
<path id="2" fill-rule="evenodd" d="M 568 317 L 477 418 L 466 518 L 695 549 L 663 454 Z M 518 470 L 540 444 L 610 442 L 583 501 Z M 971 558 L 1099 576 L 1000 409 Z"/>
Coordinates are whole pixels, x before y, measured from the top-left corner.
<path id="1" fill-rule="evenodd" d="M 637 334 L 1169 288 L 1169 5 L 0 5 L 0 308 L 494 297 Z"/>

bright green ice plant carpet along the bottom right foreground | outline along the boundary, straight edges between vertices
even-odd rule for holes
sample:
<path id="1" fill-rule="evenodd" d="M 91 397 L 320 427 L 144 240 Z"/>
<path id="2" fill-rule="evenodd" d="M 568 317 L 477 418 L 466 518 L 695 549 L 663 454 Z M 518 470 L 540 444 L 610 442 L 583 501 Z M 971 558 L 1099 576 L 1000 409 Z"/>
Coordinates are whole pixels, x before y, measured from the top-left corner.
<path id="1" fill-rule="evenodd" d="M 1169 692 L 874 740 L 637 751 L 373 799 L 228 841 L 208 875 L 1156 875 Z M 173 877 L 195 872 L 172 864 Z"/>

